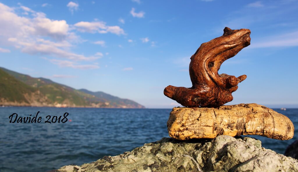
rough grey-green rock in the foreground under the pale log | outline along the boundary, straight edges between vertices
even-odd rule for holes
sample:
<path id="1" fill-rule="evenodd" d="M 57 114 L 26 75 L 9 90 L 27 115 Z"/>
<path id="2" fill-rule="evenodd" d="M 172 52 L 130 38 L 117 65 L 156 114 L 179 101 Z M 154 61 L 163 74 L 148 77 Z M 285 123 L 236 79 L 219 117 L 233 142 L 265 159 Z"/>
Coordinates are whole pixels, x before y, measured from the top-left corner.
<path id="1" fill-rule="evenodd" d="M 250 137 L 220 135 L 213 140 L 162 138 L 114 157 L 81 166 L 67 165 L 59 172 L 283 172 L 298 171 L 298 160 L 261 147 Z"/>

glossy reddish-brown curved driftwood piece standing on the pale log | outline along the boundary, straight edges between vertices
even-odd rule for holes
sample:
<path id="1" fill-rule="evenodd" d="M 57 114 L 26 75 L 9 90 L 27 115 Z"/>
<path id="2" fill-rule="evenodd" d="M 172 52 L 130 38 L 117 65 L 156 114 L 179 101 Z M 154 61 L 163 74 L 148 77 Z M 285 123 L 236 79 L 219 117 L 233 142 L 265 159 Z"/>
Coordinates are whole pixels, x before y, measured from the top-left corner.
<path id="1" fill-rule="evenodd" d="M 190 88 L 167 86 L 164 95 L 185 107 L 219 107 L 233 100 L 232 92 L 246 75 L 218 74 L 221 64 L 250 45 L 250 30 L 224 29 L 224 35 L 202 43 L 190 57 Z"/>

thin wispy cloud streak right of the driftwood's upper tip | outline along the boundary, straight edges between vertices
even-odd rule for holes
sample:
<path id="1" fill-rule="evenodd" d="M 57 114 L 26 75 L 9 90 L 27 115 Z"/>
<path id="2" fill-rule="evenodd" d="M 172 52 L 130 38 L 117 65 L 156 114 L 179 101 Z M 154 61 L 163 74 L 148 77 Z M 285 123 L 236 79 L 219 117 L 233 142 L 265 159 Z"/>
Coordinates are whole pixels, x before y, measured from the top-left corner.
<path id="1" fill-rule="evenodd" d="M 266 47 L 288 47 L 298 46 L 298 31 L 264 37 L 256 42 L 251 42 L 248 48 L 266 48 Z"/>

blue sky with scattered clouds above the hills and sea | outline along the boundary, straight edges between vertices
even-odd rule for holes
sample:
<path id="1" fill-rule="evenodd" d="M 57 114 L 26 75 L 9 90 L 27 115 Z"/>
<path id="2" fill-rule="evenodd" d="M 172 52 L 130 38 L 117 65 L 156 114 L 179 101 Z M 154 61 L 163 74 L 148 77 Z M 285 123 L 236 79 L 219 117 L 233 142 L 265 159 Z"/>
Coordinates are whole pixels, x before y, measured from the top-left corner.
<path id="1" fill-rule="evenodd" d="M 251 45 L 219 70 L 246 74 L 227 104 L 298 108 L 298 1 L 0 0 L 0 66 L 147 108 L 181 106 L 190 57 L 224 27 Z"/>

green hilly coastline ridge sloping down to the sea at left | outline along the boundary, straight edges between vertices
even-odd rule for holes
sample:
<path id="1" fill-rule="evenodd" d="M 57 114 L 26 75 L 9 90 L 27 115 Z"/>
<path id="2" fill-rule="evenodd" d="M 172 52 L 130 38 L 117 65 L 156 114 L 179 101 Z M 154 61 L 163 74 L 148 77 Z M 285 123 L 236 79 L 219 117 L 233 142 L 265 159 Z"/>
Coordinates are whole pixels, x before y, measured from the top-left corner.
<path id="1" fill-rule="evenodd" d="M 98 91 L 76 90 L 46 78 L 0 67 L 0 105 L 45 107 L 145 108 L 129 99 Z"/>

